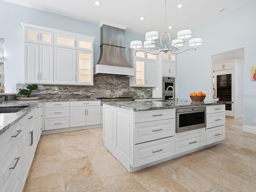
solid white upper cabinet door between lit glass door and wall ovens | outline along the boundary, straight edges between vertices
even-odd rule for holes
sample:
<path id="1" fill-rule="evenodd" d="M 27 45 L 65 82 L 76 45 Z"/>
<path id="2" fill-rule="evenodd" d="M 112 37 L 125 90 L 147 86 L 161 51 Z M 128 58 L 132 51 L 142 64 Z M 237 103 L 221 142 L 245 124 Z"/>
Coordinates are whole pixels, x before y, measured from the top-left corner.
<path id="1" fill-rule="evenodd" d="M 157 62 L 146 61 L 146 86 L 156 87 L 157 86 Z"/>

